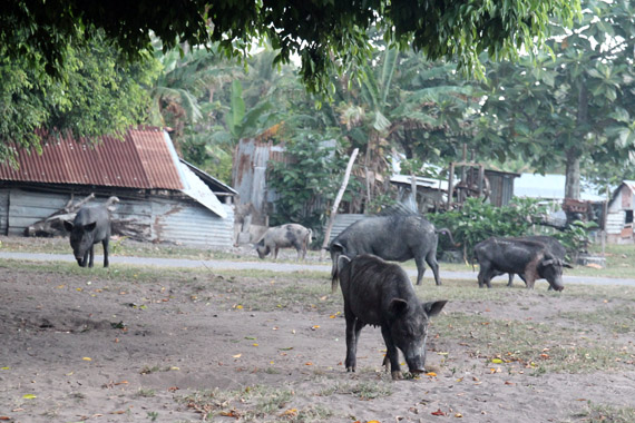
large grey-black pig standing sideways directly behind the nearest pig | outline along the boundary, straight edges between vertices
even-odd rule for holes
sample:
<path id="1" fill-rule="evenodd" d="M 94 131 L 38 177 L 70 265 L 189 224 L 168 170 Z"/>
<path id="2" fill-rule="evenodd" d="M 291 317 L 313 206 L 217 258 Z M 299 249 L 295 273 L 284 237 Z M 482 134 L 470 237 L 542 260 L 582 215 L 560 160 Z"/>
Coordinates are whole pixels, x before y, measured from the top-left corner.
<path id="1" fill-rule="evenodd" d="M 406 262 L 414 258 L 417 264 L 417 285 L 421 284 L 426 263 L 432 268 L 434 282 L 441 285 L 439 264 L 437 263 L 438 233 L 448 229 L 434 229 L 421 215 L 373 216 L 355 222 L 338 235 L 329 252 L 333 260 L 331 288 L 338 288 L 338 258 L 340 255 L 354 257 L 360 254 L 374 254 L 385 260 Z M 453 240 L 452 240 L 453 243 Z"/>

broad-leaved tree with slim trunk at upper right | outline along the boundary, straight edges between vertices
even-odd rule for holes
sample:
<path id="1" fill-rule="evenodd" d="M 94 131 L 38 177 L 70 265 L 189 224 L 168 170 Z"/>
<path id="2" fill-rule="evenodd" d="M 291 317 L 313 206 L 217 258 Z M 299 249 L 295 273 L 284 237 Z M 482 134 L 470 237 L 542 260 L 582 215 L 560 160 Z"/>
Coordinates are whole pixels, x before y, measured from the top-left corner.
<path id="1" fill-rule="evenodd" d="M 489 119 L 475 139 L 481 157 L 565 168 L 567 198 L 579 198 L 580 167 L 588 175 L 635 158 L 635 8 L 583 3 L 578 26 L 555 27 L 554 58 L 492 65 L 482 109 Z"/>

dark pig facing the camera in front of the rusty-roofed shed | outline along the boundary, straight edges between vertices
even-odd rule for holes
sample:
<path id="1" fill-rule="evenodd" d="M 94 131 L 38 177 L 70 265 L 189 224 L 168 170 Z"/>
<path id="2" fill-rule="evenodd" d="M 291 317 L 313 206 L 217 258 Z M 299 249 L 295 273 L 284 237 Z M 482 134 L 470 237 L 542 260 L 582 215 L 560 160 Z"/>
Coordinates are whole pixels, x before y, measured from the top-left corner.
<path id="1" fill-rule="evenodd" d="M 92 207 L 81 207 L 72 223 L 65 222 L 66 230 L 70 233 L 70 246 L 77 263 L 81 267 L 92 267 L 95 244 L 104 246 L 104 267 L 108 267 L 108 243 L 110 240 L 110 210 L 108 204 Z M 117 199 L 118 201 L 118 199 Z"/>

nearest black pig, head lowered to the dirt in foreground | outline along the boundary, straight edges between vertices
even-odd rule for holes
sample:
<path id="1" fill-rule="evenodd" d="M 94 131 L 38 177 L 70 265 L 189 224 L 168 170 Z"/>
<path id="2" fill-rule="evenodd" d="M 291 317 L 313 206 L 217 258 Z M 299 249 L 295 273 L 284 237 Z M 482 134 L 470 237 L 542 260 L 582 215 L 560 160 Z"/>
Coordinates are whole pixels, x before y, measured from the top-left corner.
<path id="1" fill-rule="evenodd" d="M 398 348 L 410 373 L 426 372 L 428 319 L 438 315 L 447 301 L 421 303 L 399 265 L 370 254 L 352 259 L 341 256 L 338 267 L 346 318 L 346 371 L 355 371 L 362 327 L 373 325 L 381 327 L 388 351 L 384 364 L 388 367 L 390 363 L 393 380 L 402 378 Z"/>

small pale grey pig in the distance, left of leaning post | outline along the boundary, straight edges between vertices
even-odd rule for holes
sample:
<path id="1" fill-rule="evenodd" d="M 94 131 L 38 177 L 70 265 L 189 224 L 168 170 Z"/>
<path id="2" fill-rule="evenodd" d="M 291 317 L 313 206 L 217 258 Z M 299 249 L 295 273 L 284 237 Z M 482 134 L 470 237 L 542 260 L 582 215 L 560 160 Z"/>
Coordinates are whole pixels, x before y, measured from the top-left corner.
<path id="1" fill-rule="evenodd" d="M 256 252 L 260 258 L 265 258 L 273 252 L 273 259 L 277 258 L 280 248 L 295 248 L 297 259 L 304 259 L 306 248 L 311 244 L 313 232 L 297 224 L 286 224 L 268 228 L 262 239 L 256 244 Z"/>

